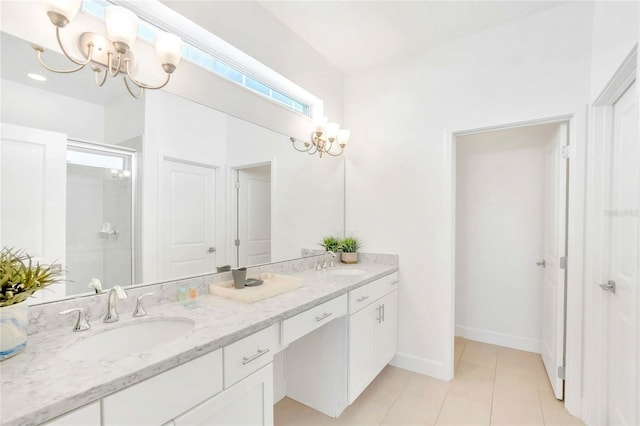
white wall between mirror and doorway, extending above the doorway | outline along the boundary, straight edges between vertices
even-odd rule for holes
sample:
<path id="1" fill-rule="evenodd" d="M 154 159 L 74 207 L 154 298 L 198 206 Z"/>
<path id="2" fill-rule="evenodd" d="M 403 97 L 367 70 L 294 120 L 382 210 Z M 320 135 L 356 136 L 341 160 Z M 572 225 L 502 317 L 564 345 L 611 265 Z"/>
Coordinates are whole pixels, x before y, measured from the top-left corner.
<path id="1" fill-rule="evenodd" d="M 400 255 L 396 365 L 453 374 L 447 132 L 583 107 L 592 7 L 558 6 L 347 78 L 346 229 L 367 251 Z"/>

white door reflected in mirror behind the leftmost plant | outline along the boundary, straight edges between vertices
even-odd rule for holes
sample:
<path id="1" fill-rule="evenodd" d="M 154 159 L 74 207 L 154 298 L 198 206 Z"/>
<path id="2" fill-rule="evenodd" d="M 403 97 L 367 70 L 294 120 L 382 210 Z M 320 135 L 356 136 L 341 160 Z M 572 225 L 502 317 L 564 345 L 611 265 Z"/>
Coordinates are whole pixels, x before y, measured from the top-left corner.
<path id="1" fill-rule="evenodd" d="M 67 136 L 9 124 L 0 132 L 0 246 L 64 269 Z M 61 282 L 28 300 L 64 295 Z"/>

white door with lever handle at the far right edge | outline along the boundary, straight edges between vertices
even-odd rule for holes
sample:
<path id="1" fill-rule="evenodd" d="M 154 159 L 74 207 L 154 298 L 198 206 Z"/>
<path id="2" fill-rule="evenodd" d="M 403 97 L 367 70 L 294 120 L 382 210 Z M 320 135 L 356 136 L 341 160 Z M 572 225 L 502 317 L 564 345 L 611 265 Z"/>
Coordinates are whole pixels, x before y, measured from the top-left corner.
<path id="1" fill-rule="evenodd" d="M 613 106 L 605 210 L 608 423 L 640 424 L 638 286 L 640 285 L 640 142 L 638 92 L 632 84 Z"/>

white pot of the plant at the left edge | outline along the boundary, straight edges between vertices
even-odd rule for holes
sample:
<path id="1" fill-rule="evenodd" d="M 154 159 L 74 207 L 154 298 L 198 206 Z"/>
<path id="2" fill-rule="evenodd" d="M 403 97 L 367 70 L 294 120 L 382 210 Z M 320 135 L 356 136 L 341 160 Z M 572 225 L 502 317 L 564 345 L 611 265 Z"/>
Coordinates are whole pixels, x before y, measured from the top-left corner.
<path id="1" fill-rule="evenodd" d="M 25 302 L 0 308 L 0 361 L 24 350 L 28 325 L 29 306 Z"/>

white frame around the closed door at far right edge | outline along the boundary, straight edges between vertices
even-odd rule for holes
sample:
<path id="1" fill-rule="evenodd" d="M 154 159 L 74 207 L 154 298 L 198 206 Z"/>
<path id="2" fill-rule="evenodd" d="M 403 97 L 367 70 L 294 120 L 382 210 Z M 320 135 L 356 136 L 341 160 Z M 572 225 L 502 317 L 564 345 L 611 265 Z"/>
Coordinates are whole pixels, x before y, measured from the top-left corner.
<path id="1" fill-rule="evenodd" d="M 613 136 L 613 105 L 618 98 L 637 80 L 638 46 L 635 45 L 616 72 L 589 108 L 589 141 L 591 153 L 587 168 L 589 188 L 586 207 L 585 256 L 585 368 L 584 368 L 584 413 L 587 423 L 607 422 L 607 377 L 602 368 L 607 361 L 607 336 L 603 321 L 607 315 L 606 299 L 598 286 L 602 271 L 604 220 L 604 196 L 607 168 L 607 147 Z M 637 82 L 636 82 L 637 83 Z"/>

